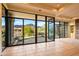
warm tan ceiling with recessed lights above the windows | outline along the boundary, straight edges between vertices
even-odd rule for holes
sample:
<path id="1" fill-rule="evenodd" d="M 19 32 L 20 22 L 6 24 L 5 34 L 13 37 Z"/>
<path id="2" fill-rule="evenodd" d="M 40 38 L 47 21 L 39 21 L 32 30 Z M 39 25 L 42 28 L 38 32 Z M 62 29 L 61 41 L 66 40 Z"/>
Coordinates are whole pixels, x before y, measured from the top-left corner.
<path id="1" fill-rule="evenodd" d="M 60 21 L 73 21 L 79 18 L 77 3 L 7 3 L 6 5 L 10 10 L 52 16 Z"/>

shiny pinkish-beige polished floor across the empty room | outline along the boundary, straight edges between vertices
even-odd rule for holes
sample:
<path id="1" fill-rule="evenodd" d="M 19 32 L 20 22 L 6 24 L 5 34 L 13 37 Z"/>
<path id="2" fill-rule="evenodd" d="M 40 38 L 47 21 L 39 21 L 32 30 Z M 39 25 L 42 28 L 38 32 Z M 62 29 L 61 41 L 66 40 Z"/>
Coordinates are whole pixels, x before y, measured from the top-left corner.
<path id="1" fill-rule="evenodd" d="M 62 38 L 55 42 L 8 47 L 2 56 L 78 56 L 79 40 Z"/>

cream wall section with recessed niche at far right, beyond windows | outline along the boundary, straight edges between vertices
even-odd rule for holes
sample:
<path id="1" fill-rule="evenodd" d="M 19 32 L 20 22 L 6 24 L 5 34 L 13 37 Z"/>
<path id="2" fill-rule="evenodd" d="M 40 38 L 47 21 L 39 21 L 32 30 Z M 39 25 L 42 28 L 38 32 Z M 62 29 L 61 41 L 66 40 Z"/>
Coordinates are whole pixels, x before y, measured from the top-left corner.
<path id="1" fill-rule="evenodd" d="M 74 21 L 69 22 L 68 24 L 69 38 L 75 39 L 75 30 L 76 30 L 76 27 L 75 27 L 75 20 L 74 20 Z"/>

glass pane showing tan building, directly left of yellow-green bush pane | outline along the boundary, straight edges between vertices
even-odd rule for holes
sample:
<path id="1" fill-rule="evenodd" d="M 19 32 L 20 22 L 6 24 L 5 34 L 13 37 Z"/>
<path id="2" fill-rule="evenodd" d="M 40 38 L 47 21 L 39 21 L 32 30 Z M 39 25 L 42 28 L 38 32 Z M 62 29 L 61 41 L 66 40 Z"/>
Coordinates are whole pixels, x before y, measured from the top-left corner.
<path id="1" fill-rule="evenodd" d="M 14 37 L 11 39 L 12 45 L 23 44 L 23 20 L 14 19 Z"/>

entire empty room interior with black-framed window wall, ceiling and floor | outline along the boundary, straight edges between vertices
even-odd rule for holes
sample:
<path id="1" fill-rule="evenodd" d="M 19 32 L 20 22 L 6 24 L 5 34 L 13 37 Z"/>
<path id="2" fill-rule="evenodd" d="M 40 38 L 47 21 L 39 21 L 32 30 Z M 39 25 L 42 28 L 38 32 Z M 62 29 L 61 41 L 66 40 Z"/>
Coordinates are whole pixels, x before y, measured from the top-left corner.
<path id="1" fill-rule="evenodd" d="M 0 4 L 2 56 L 78 56 L 78 3 Z"/>

